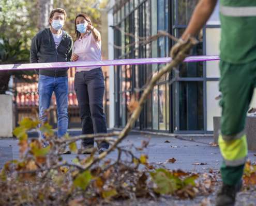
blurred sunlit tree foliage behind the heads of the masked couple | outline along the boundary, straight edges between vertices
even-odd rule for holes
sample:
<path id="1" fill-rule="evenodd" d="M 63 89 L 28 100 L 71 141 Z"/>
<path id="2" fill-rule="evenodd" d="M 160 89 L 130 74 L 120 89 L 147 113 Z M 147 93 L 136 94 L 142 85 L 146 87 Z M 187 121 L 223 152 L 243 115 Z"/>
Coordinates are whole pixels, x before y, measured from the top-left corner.
<path id="1" fill-rule="evenodd" d="M 53 8 L 63 8 L 67 13 L 66 24 L 63 27 L 71 37 L 74 33 L 74 19 L 79 13 L 85 13 L 91 18 L 93 25 L 100 29 L 100 11 L 92 8 L 97 1 L 54 0 Z M 100 7 L 106 5 L 102 1 Z M 3 6 L 2 6 L 3 5 Z M 11 43 L 22 40 L 22 47 L 29 48 L 32 38 L 38 33 L 37 1 L 34 0 L 0 0 L 0 37 L 8 38 Z"/>

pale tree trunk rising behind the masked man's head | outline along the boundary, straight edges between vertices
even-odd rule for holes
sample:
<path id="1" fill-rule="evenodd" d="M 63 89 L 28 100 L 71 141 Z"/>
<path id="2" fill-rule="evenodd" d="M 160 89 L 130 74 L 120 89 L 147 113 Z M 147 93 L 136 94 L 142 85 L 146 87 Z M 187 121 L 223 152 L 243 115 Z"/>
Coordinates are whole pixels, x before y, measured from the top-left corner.
<path id="1" fill-rule="evenodd" d="M 49 27 L 49 17 L 52 11 L 53 0 L 39 0 L 37 1 L 37 29 L 42 31 L 44 28 Z"/>

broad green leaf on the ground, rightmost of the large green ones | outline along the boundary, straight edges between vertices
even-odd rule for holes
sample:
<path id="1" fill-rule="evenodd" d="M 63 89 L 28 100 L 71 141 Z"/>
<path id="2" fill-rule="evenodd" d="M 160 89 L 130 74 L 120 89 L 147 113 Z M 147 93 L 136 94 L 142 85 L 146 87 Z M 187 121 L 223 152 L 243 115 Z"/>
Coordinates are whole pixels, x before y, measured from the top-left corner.
<path id="1" fill-rule="evenodd" d="M 165 195 L 172 194 L 174 191 L 176 191 L 175 179 L 169 179 L 162 171 L 154 175 L 152 181 L 157 184 L 157 188 L 154 188 L 156 193 Z"/>

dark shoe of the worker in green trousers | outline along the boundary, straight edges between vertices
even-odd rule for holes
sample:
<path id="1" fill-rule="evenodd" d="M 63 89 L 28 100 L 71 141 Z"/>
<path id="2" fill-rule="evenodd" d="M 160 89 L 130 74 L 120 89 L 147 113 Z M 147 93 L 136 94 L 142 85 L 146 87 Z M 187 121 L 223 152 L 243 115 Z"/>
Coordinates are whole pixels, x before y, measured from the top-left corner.
<path id="1" fill-rule="evenodd" d="M 236 193 L 242 187 L 242 180 L 236 185 L 222 183 L 221 190 L 217 196 L 216 206 L 234 206 Z"/>

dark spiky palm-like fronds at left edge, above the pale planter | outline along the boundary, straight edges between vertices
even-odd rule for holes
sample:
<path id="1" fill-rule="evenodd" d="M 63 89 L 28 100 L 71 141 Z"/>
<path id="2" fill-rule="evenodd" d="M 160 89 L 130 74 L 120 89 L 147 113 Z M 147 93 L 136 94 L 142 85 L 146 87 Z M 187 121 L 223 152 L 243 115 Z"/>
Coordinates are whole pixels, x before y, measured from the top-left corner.
<path id="1" fill-rule="evenodd" d="M 0 64 L 19 64 L 29 62 L 29 50 L 21 48 L 22 42 L 17 40 L 12 45 L 4 39 L 3 43 L 0 43 Z M 23 75 L 33 76 L 33 70 L 12 70 L 12 71 L 0 71 L 0 94 L 5 94 L 8 90 L 8 83 L 11 75 L 15 75 L 17 79 L 26 80 Z"/>

